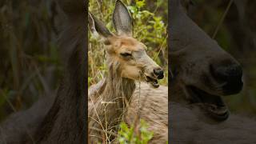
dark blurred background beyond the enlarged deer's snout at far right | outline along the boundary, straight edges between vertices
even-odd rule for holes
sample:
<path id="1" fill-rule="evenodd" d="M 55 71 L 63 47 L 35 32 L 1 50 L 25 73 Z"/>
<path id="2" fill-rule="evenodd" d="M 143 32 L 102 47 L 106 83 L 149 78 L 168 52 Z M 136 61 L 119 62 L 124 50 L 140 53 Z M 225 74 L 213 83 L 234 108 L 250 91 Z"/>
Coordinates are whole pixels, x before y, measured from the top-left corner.
<path id="1" fill-rule="evenodd" d="M 244 87 L 240 94 L 226 97 L 233 113 L 256 114 L 256 1 L 183 1 L 187 14 L 211 37 L 230 5 L 215 40 L 242 64 Z"/>

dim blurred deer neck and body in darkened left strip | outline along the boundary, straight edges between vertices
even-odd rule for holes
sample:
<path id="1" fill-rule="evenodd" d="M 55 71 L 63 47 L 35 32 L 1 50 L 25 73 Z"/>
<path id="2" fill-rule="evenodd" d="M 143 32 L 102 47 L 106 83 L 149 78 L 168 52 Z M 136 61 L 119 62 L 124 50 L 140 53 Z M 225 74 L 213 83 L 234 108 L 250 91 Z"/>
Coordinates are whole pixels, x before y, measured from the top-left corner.
<path id="1" fill-rule="evenodd" d="M 65 69 L 57 94 L 11 114 L 0 125 L 0 143 L 87 142 L 87 4 L 83 0 L 56 2 L 61 11 L 58 44 Z"/>

